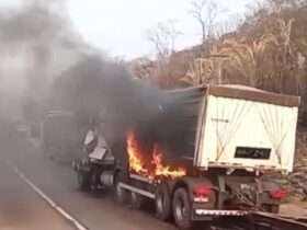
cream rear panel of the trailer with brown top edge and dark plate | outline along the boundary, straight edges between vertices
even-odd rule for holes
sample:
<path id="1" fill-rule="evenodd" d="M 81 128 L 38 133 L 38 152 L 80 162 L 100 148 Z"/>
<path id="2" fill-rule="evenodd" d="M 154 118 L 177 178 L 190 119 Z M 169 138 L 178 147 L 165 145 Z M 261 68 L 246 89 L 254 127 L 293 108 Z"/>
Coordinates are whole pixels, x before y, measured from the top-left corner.
<path id="1" fill-rule="evenodd" d="M 205 101 L 196 166 L 293 170 L 297 97 L 230 89 L 208 91 Z"/>

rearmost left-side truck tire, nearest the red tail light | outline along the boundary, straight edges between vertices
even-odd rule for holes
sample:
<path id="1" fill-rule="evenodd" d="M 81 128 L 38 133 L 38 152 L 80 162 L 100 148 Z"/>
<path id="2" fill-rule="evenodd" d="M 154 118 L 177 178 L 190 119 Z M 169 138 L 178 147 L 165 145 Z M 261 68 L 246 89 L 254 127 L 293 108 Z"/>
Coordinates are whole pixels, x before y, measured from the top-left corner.
<path id="1" fill-rule="evenodd" d="M 191 230 L 193 228 L 193 221 L 191 220 L 191 202 L 185 188 L 180 187 L 174 192 L 172 211 L 174 222 L 179 229 Z"/>

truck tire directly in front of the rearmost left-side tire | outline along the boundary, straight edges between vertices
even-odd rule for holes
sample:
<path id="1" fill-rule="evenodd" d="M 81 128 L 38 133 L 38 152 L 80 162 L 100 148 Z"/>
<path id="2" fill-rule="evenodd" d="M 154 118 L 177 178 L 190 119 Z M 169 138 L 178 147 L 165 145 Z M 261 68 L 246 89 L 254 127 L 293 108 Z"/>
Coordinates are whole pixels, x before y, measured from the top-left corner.
<path id="1" fill-rule="evenodd" d="M 171 196 L 166 184 L 158 185 L 155 205 L 157 218 L 160 220 L 169 220 L 171 217 Z"/>

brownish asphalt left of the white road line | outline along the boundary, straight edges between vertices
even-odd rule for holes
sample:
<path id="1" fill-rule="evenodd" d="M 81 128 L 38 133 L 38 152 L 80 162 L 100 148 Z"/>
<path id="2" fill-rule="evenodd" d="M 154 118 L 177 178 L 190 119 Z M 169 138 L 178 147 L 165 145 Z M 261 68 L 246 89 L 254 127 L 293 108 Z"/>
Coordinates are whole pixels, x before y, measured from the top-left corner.
<path id="1" fill-rule="evenodd" d="M 3 161 L 0 182 L 0 229 L 72 229 Z"/>

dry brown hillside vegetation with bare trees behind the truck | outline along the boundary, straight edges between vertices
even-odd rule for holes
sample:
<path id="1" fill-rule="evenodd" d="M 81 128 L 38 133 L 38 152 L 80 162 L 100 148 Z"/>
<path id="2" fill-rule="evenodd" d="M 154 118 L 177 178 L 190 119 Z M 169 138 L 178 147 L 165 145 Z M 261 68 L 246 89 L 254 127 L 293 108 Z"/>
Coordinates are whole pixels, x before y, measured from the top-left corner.
<path id="1" fill-rule="evenodd" d="M 196 0 L 191 16 L 200 24 L 200 44 L 174 50 L 175 24 L 161 23 L 149 33 L 156 59 L 132 62 L 134 73 L 161 88 L 236 83 L 307 100 L 307 1 L 265 0 L 254 3 L 232 24 L 217 18 L 225 9 Z"/>

